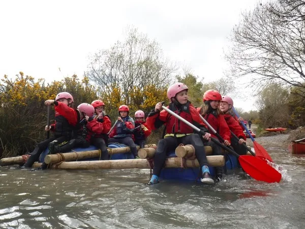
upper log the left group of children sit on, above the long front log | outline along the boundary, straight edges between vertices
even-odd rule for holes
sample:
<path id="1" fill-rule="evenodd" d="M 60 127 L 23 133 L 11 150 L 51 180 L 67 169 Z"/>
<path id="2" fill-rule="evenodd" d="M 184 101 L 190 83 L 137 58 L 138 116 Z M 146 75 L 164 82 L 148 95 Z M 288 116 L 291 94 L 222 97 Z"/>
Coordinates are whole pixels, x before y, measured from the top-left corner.
<path id="1" fill-rule="evenodd" d="M 156 144 L 148 144 L 145 145 L 145 148 L 147 147 L 156 147 Z M 140 147 L 137 146 L 137 149 Z M 123 154 L 123 153 L 129 153 L 130 147 L 120 147 L 120 148 L 108 148 L 108 154 Z M 46 164 L 49 163 L 58 163 L 60 161 L 76 161 L 79 159 L 85 159 L 85 158 L 94 158 L 94 157 L 100 157 L 101 152 L 100 150 L 89 150 L 89 151 L 80 151 L 80 152 L 69 152 L 69 153 L 59 153 L 59 154 L 49 154 L 45 157 L 44 162 Z"/>

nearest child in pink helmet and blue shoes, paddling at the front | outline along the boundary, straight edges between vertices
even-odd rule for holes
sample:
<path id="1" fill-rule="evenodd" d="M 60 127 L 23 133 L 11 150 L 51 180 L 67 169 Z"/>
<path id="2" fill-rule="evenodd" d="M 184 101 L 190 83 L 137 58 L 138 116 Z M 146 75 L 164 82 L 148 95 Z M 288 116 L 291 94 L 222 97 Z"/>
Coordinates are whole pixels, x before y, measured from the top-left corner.
<path id="1" fill-rule="evenodd" d="M 189 121 L 193 125 L 205 132 L 202 137 L 209 140 L 210 134 L 206 133 L 207 128 L 202 123 L 199 117 L 199 113 L 196 108 L 188 100 L 188 87 L 184 83 L 174 83 L 167 90 L 167 98 L 171 101 L 168 108 L 175 112 L 180 117 Z M 161 169 L 166 160 L 167 153 L 175 148 L 179 144 L 191 144 L 195 148 L 195 155 L 198 159 L 201 169 L 201 182 L 212 184 L 214 180 L 210 176 L 207 158 L 203 143 L 200 139 L 200 135 L 194 133 L 194 129 L 179 119 L 175 118 L 166 110 L 162 110 L 161 102 L 157 103 L 155 109 L 152 110 L 147 117 L 147 124 L 152 129 L 158 129 L 165 125 L 166 135 L 163 139 L 159 140 L 155 158 L 154 158 L 154 169 L 153 176 L 151 176 L 148 185 L 158 183 Z"/>

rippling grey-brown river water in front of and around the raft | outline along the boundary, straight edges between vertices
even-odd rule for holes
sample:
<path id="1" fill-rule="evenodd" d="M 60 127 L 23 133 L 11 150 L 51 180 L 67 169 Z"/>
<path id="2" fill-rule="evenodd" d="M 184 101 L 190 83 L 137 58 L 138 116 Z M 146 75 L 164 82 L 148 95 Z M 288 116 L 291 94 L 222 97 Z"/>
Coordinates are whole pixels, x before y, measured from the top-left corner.
<path id="1" fill-rule="evenodd" d="M 0 168 L 0 228 L 304 228 L 305 155 L 267 149 L 281 183 L 240 171 L 214 186 L 162 181 L 149 170 Z"/>

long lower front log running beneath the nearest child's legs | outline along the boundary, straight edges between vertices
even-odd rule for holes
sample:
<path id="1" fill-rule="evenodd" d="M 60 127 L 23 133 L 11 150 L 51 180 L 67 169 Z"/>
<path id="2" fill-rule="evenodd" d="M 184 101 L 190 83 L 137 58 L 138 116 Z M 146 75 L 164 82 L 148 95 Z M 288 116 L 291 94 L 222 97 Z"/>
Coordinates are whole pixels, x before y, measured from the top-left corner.
<path id="1" fill-rule="evenodd" d="M 210 166 L 224 166 L 225 158 L 219 156 L 207 156 Z M 34 163 L 33 167 L 39 167 L 41 163 Z M 197 159 L 185 159 L 186 167 L 199 167 Z M 181 158 L 172 157 L 165 161 L 165 168 L 180 168 Z M 129 168 L 150 168 L 149 161 L 146 159 L 126 159 L 126 160 L 104 160 L 104 161 L 70 161 L 51 164 L 52 169 L 84 170 L 84 169 L 129 169 Z"/>

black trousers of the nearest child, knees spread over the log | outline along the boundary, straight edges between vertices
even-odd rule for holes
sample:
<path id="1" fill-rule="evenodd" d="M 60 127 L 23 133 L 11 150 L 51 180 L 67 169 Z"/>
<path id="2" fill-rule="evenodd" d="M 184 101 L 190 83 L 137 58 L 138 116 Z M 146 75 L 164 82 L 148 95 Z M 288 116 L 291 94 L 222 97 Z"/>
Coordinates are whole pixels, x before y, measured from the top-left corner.
<path id="1" fill-rule="evenodd" d="M 190 134 L 184 137 L 166 137 L 158 142 L 155 160 L 154 160 L 154 169 L 153 175 L 160 175 L 161 169 L 166 160 L 166 156 L 170 151 L 176 149 L 179 144 L 188 145 L 191 144 L 195 148 L 195 155 L 198 159 L 200 167 L 207 164 L 205 149 L 203 143 L 198 134 Z"/>

